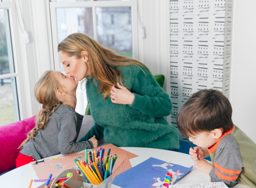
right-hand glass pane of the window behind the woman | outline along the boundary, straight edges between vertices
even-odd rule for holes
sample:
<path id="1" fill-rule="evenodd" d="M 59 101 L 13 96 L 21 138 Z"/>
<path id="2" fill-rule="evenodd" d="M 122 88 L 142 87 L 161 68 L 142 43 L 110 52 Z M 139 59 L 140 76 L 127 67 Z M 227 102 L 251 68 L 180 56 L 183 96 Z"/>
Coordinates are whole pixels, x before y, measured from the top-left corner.
<path id="1" fill-rule="evenodd" d="M 96 7 L 98 42 L 133 57 L 131 7 Z"/>

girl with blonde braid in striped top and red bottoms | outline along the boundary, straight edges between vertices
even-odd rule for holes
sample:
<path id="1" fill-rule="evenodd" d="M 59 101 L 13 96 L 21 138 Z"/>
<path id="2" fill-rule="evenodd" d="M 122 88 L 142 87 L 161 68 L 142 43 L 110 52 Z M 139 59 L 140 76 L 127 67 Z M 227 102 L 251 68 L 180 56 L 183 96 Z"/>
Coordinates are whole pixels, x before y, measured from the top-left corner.
<path id="1" fill-rule="evenodd" d="M 43 105 L 36 116 L 36 127 L 19 148 L 16 167 L 57 154 L 70 154 L 95 148 L 95 136 L 76 143 L 83 116 L 75 112 L 78 82 L 57 71 L 46 71 L 36 83 L 34 93 Z"/>

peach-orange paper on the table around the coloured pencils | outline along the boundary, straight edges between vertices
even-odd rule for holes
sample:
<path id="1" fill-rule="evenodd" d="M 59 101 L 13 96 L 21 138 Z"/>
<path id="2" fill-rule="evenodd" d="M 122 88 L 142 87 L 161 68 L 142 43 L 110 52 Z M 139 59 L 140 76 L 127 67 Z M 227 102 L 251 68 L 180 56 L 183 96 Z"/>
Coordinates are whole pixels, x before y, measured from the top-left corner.
<path id="1" fill-rule="evenodd" d="M 129 151 L 118 148 L 113 144 L 106 144 L 101 147 L 105 148 L 106 153 L 110 148 L 111 149 L 110 156 L 112 154 L 117 154 L 118 156 L 112 171 L 112 176 L 113 176 L 112 181 L 114 177 L 116 177 L 119 173 L 122 173 L 132 167 L 129 159 L 132 159 L 138 156 L 133 153 L 130 153 Z M 97 151 L 98 148 L 95 148 L 94 150 Z M 82 159 L 83 161 L 85 161 L 85 152 L 81 151 L 79 153 L 61 155 L 59 157 L 50 157 L 48 159 L 44 159 L 43 162 L 39 162 L 42 160 L 38 160 L 38 161 L 31 162 L 30 164 L 32 165 L 39 179 L 48 179 L 50 173 L 52 174 L 52 177 L 55 177 L 63 170 L 71 168 L 72 166 L 75 166 L 76 164 L 74 162 L 74 159 L 76 157 L 78 157 L 78 159 Z M 88 157 L 87 159 L 90 160 L 89 155 L 87 157 Z"/>

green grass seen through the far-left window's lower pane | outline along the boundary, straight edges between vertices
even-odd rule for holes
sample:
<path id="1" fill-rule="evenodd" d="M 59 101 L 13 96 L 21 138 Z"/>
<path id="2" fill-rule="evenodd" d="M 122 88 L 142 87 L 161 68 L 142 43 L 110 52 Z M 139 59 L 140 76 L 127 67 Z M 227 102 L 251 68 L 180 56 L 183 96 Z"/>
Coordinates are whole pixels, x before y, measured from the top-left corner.
<path id="1" fill-rule="evenodd" d="M 0 126 L 15 122 L 14 105 L 6 105 L 0 108 Z"/>

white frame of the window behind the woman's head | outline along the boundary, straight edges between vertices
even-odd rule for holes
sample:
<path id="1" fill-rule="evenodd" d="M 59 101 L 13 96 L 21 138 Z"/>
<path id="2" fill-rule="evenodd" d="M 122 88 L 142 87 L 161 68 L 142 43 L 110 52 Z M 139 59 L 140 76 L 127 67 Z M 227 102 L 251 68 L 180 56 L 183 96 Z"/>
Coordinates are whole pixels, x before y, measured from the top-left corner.
<path id="1" fill-rule="evenodd" d="M 53 56 L 54 56 L 54 70 L 64 71 L 64 68 L 60 67 L 58 56 L 58 29 L 57 29 L 57 8 L 83 8 L 92 7 L 93 26 L 94 26 L 94 39 L 97 41 L 97 22 L 96 22 L 96 7 L 120 7 L 130 6 L 132 14 L 132 42 L 133 42 L 133 58 L 139 59 L 139 47 L 138 47 L 138 21 L 137 21 L 137 1 L 77 1 L 77 2 L 50 2 L 50 17 L 51 17 L 51 31 L 52 31 L 52 44 L 53 44 Z"/>

